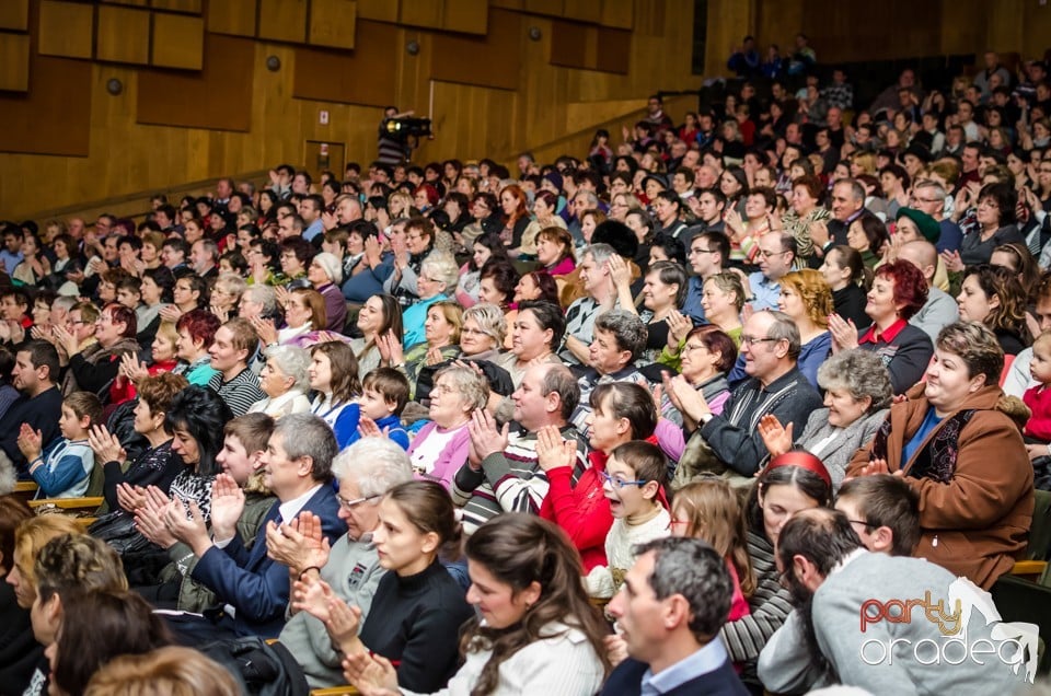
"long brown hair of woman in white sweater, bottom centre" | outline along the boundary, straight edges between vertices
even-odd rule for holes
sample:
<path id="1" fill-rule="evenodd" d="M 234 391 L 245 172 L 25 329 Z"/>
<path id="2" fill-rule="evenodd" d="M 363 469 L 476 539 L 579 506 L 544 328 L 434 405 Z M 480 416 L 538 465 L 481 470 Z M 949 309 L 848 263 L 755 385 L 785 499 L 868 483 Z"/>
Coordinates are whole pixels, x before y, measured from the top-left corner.
<path id="1" fill-rule="evenodd" d="M 566 624 L 587 636 L 607 672 L 603 643 L 607 626 L 580 583 L 582 568 L 576 548 L 555 524 L 532 514 L 507 513 L 493 518 L 467 537 L 464 553 L 498 582 L 510 585 L 512 596 L 540 584 L 540 598 L 515 626 L 495 629 L 472 619 L 461 634 L 466 654 L 482 650 L 492 656 L 471 689 L 472 696 L 492 694 L 500 665 L 527 646 L 552 637 L 551 625 Z"/>

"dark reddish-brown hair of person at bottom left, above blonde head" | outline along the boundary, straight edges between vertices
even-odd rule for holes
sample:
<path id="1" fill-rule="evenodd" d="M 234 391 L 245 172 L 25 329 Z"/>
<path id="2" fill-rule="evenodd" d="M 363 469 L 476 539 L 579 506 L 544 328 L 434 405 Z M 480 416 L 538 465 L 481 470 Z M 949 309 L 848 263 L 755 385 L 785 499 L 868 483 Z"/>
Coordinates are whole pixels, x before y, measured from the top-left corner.
<path id="1" fill-rule="evenodd" d="M 80 696 L 113 658 L 173 642 L 164 619 L 135 592 L 72 593 L 62 598 L 62 608 L 51 680 L 70 696 Z"/>

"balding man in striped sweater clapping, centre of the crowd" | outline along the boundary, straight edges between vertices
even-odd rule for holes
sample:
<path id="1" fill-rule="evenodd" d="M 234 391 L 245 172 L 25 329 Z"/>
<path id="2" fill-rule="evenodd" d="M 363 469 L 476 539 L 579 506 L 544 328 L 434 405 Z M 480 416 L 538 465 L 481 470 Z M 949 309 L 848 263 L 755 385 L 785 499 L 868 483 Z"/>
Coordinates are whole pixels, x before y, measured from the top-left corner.
<path id="1" fill-rule="evenodd" d="M 501 512 L 540 511 L 550 483 L 536 463 L 536 434 L 547 426 L 564 440 L 576 440 L 577 465 L 573 483 L 588 466 L 588 440 L 569 424 L 580 401 L 580 387 L 562 364 L 529 368 L 511 394 L 513 424 L 500 430 L 484 411 L 469 425 L 471 451 L 467 463 L 452 482 L 452 500 L 463 508 L 464 530 L 470 534 Z"/>

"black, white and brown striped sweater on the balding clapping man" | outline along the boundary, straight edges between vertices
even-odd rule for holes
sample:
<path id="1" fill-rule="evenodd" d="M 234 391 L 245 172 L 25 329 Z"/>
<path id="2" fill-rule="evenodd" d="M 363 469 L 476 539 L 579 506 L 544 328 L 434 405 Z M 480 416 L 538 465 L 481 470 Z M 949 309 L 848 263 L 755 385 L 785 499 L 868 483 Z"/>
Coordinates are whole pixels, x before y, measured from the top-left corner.
<path id="1" fill-rule="evenodd" d="M 577 464 L 573 484 L 588 467 L 587 440 L 573 426 L 562 429 L 562 437 L 577 441 Z M 463 508 L 463 527 L 467 534 L 501 512 L 538 514 L 547 495 L 547 475 L 536 464 L 536 433 L 519 430 L 508 439 L 507 449 L 494 452 L 474 471 L 470 462 L 460 467 L 452 480 L 453 502 Z"/>

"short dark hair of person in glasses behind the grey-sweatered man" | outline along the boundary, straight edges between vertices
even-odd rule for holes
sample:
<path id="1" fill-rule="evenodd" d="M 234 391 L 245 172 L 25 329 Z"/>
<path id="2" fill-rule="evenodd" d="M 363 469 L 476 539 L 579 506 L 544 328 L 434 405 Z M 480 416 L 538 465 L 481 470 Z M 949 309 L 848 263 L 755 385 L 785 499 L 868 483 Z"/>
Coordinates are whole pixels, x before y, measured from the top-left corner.
<path id="1" fill-rule="evenodd" d="M 920 495 L 900 476 L 881 474 L 848 478 L 836 500 L 850 498 L 867 532 L 886 526 L 893 534 L 893 556 L 912 556 L 920 543 Z"/>

